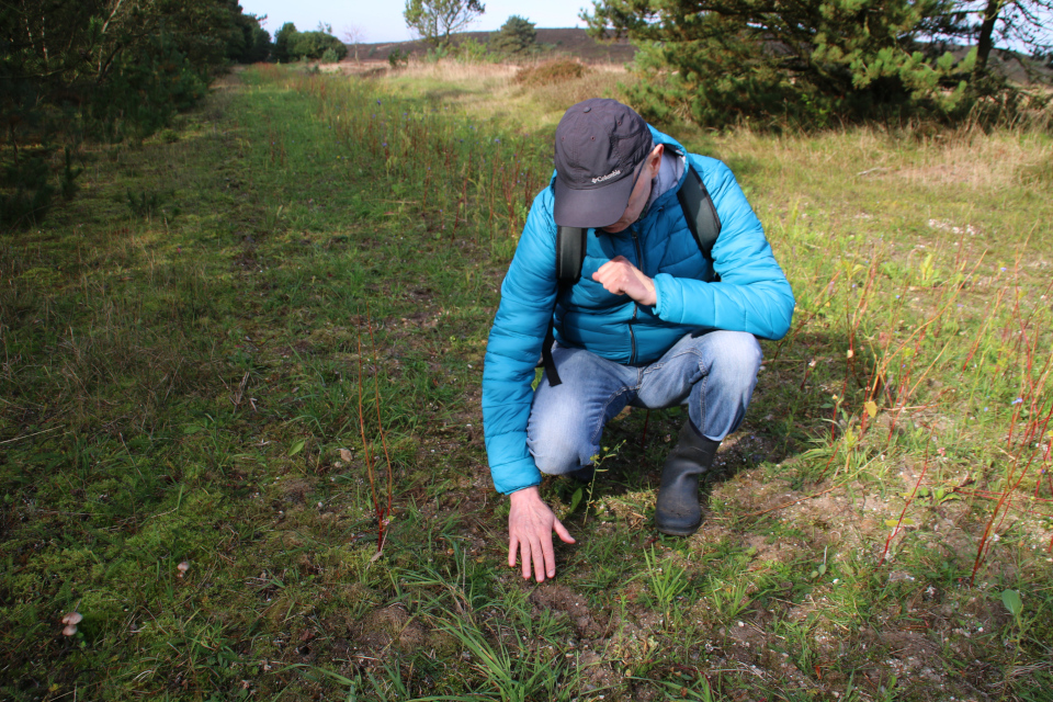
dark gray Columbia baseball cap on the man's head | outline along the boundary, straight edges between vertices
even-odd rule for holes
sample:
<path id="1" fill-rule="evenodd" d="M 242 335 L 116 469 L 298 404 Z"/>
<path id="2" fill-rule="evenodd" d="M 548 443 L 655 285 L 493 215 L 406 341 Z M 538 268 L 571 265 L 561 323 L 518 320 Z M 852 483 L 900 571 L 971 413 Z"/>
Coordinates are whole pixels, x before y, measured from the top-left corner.
<path id="1" fill-rule="evenodd" d="M 650 149 L 647 123 L 616 100 L 591 98 L 567 110 L 556 127 L 556 224 L 618 222 Z"/>

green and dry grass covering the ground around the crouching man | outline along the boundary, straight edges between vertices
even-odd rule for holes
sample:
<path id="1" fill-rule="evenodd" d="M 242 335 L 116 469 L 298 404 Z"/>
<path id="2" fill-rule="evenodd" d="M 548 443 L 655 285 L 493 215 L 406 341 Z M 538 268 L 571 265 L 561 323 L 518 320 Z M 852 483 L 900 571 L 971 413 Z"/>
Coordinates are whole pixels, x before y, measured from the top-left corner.
<path id="1" fill-rule="evenodd" d="M 0 239 L 0 695 L 1048 700 L 1050 137 L 673 126 L 793 329 L 699 534 L 652 526 L 682 415 L 625 412 L 534 586 L 482 359 L 592 83 L 486 80 L 239 73 Z"/>

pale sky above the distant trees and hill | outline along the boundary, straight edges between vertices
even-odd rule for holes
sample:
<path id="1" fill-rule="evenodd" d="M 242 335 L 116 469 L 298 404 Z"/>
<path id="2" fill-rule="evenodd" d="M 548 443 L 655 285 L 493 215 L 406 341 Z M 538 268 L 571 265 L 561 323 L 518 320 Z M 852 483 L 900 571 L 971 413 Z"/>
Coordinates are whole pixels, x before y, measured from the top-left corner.
<path id="1" fill-rule="evenodd" d="M 332 25 L 332 33 L 343 37 L 344 27 L 356 26 L 363 43 L 406 42 L 416 38 L 403 20 L 405 2 L 400 0 L 240 0 L 246 12 L 267 15 L 264 29 L 274 34 L 286 22 L 299 31 L 315 30 L 319 22 Z M 537 29 L 579 26 L 582 8 L 592 9 L 590 0 L 484 0 L 486 12 L 469 31 L 491 32 L 500 29 L 512 14 L 526 18 Z"/>

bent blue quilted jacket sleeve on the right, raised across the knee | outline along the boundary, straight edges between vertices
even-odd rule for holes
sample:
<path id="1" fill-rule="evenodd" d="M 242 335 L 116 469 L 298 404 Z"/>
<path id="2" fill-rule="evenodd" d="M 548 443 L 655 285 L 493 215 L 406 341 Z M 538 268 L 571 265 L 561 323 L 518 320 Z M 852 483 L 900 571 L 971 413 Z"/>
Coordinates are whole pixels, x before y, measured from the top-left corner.
<path id="1" fill-rule="evenodd" d="M 691 155 L 717 216 L 721 235 L 713 246 L 720 282 L 707 283 L 667 273 L 655 276 L 655 314 L 693 327 L 748 331 L 781 339 L 790 329 L 793 292 L 775 262 L 760 220 L 735 177 L 715 159 Z"/>

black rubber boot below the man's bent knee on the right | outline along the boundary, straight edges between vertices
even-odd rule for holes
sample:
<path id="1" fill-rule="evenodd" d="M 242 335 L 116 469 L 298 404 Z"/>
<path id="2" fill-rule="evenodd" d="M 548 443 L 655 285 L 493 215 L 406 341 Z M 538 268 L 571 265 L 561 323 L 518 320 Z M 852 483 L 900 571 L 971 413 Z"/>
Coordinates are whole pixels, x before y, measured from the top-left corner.
<path id="1" fill-rule="evenodd" d="M 661 487 L 655 508 L 658 531 L 671 536 L 690 536 L 702 525 L 699 505 L 699 478 L 713 465 L 720 441 L 706 439 L 683 422 L 677 445 L 666 457 L 661 469 Z"/>

